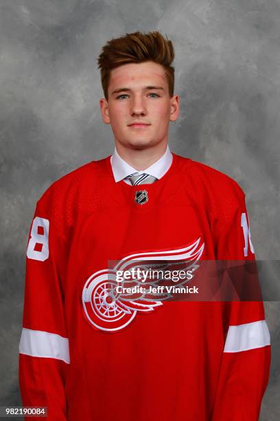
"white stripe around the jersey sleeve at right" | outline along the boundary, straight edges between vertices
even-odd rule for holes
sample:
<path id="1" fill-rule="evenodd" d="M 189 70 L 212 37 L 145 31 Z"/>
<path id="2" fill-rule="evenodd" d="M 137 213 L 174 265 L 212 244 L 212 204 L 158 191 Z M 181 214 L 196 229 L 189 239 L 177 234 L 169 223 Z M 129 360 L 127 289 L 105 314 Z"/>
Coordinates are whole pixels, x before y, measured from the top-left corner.
<path id="1" fill-rule="evenodd" d="M 224 352 L 248 351 L 270 345 L 270 333 L 265 320 L 229 326 Z"/>

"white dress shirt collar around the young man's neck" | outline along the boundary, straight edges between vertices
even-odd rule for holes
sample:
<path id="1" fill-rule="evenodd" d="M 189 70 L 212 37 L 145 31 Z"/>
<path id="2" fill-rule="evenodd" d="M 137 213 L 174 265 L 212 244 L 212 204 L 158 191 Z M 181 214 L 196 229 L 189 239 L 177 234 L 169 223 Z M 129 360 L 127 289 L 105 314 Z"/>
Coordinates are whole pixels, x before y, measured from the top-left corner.
<path id="1" fill-rule="evenodd" d="M 119 156 L 119 153 L 117 153 L 117 149 L 115 147 L 113 155 L 110 157 L 110 164 L 112 166 L 115 182 L 117 183 L 120 180 L 124 180 L 125 177 L 132 173 L 138 173 L 139 175 L 145 173 L 153 175 L 159 179 L 170 169 L 172 159 L 173 156 L 167 144 L 166 151 L 163 156 L 159 158 L 159 160 L 148 166 L 148 168 L 142 171 L 138 171 Z M 126 184 L 130 184 L 129 180 L 124 180 L 124 182 L 126 182 Z"/>

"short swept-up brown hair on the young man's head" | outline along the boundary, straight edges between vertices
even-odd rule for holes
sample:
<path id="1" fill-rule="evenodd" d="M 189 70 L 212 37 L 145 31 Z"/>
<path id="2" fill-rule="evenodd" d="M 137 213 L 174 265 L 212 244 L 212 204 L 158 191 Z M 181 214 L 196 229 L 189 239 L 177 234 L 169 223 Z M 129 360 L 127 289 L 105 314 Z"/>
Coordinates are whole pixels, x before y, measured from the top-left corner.
<path id="1" fill-rule="evenodd" d="M 169 41 L 167 36 L 165 39 L 157 31 L 147 34 L 137 31 L 111 39 L 102 47 L 102 52 L 97 58 L 106 100 L 108 100 L 111 70 L 128 63 L 143 63 L 144 61 L 154 61 L 164 67 L 171 98 L 174 95 L 174 67 L 171 65 L 174 56 L 172 41 Z"/>

